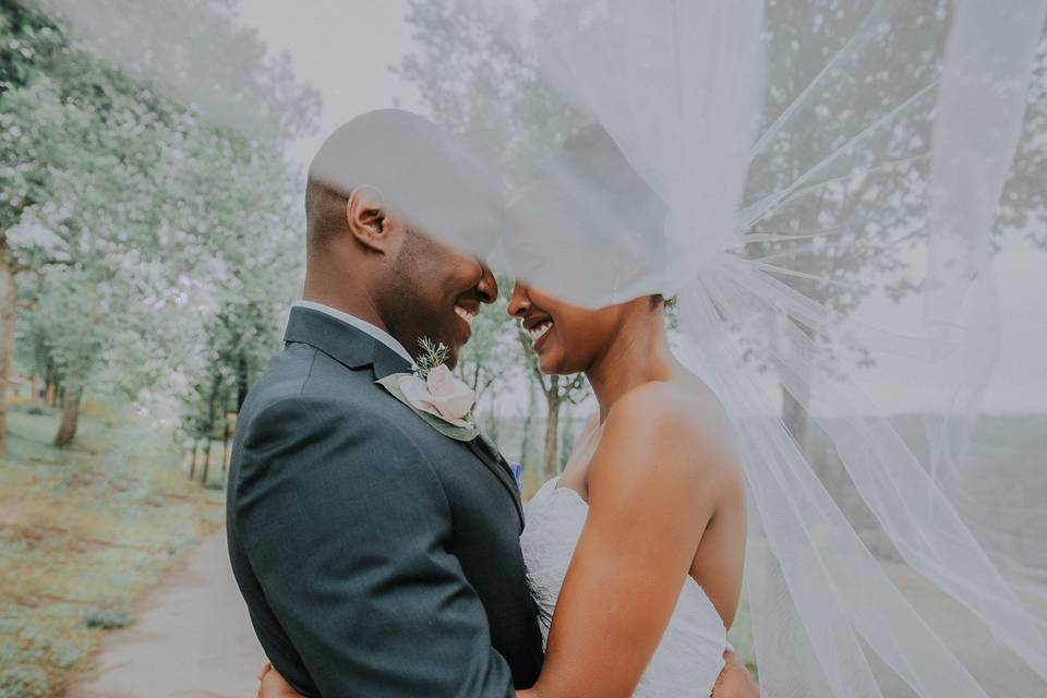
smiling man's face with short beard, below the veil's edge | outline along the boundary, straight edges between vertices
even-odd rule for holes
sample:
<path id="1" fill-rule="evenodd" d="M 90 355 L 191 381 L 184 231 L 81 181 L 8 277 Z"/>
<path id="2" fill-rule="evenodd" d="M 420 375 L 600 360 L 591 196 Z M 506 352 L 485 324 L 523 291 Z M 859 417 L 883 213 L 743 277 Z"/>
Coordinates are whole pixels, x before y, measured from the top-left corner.
<path id="1" fill-rule="evenodd" d="M 387 294 L 389 330 L 412 353 L 422 337 L 443 342 L 454 368 L 481 305 L 497 300 L 498 285 L 474 256 L 413 230 L 404 234 Z"/>

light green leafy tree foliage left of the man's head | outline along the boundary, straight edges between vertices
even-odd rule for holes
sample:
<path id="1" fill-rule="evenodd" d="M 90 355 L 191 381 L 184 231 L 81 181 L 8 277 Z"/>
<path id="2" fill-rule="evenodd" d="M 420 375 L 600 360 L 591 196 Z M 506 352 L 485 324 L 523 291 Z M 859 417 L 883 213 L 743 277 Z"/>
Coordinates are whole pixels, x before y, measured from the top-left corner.
<path id="1" fill-rule="evenodd" d="M 216 31 L 227 29 L 232 25 Z M 279 83 L 265 93 L 269 111 L 282 99 L 303 99 L 282 104 L 270 139 L 253 140 L 99 59 L 22 3 L 0 10 L 0 38 L 7 34 L 0 348 L 11 346 L 21 306 L 28 348 L 37 363 L 57 366 L 67 395 L 80 395 L 94 375 L 130 395 L 158 383 L 178 394 L 191 384 L 183 371 L 202 362 L 202 327 L 239 293 L 251 309 L 236 315 L 245 318 L 236 359 L 242 395 L 265 351 L 250 342 L 275 344 L 275 304 L 299 276 L 300 255 L 288 241 L 300 228 L 300 192 L 278 146 L 311 127 L 312 93 L 296 92 L 289 73 L 265 61 L 257 72 L 248 60 L 222 73 L 232 80 L 239 71 L 251 85 L 238 99 L 257 96 L 266 81 Z M 250 33 L 237 34 L 236 46 L 241 58 L 262 60 Z M 93 332 L 70 333 L 83 317 Z M 75 433 L 68 407 L 60 443 Z"/>

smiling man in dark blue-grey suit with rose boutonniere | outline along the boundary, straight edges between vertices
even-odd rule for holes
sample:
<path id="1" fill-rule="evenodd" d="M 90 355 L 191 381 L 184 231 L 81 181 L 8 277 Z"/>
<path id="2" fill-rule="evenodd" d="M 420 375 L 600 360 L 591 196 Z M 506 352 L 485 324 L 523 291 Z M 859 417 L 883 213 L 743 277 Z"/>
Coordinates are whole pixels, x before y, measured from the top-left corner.
<path id="1" fill-rule="evenodd" d="M 350 121 L 310 168 L 305 300 L 240 413 L 227 508 L 255 631 L 302 695 L 505 697 L 540 672 L 509 468 L 377 383 L 422 338 L 453 366 L 497 298 L 412 225 L 493 237 L 491 181 L 398 110 Z"/>

